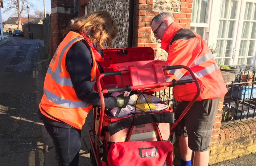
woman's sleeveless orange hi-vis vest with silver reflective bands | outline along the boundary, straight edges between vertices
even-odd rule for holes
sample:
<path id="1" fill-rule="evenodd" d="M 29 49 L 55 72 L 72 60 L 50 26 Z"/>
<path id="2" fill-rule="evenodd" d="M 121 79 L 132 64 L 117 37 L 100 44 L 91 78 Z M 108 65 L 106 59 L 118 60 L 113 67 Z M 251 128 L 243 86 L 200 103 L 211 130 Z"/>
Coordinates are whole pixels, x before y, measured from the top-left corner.
<path id="1" fill-rule="evenodd" d="M 44 81 L 43 97 L 39 104 L 40 111 L 44 116 L 80 130 L 93 106 L 77 98 L 66 69 L 66 55 L 71 46 L 81 40 L 87 41 L 92 49 L 91 82 L 95 83 L 98 70 L 95 53 L 98 52 L 89 43 L 86 36 L 83 37 L 81 34 L 70 31 L 60 43 L 50 62 Z"/>

